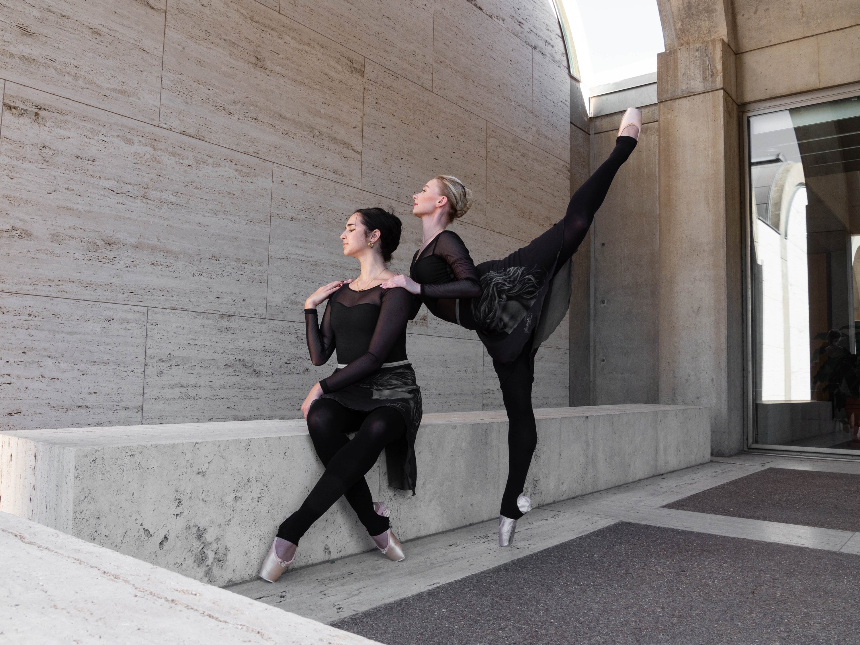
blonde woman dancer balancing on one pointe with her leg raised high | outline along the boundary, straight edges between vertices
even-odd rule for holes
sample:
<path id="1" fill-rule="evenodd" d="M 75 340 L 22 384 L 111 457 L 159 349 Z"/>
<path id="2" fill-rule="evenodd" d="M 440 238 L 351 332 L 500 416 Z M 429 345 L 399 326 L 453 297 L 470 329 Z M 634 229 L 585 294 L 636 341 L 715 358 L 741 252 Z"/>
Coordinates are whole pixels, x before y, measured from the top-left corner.
<path id="1" fill-rule="evenodd" d="M 477 267 L 463 240 L 445 230 L 469 210 L 470 190 L 450 175 L 427 181 L 413 196 L 412 212 L 421 218 L 424 240 L 409 277 L 396 275 L 382 285 L 420 294 L 434 316 L 475 329 L 493 359 L 509 421 L 500 546 L 511 544 L 517 519 L 531 510 L 531 500 L 522 493 L 537 446 L 531 408 L 535 353 L 568 310 L 570 258 L 586 237 L 617 170 L 636 147 L 641 129 L 642 113 L 631 107 L 624 113 L 615 149 L 576 191 L 564 218 L 522 249 Z"/>

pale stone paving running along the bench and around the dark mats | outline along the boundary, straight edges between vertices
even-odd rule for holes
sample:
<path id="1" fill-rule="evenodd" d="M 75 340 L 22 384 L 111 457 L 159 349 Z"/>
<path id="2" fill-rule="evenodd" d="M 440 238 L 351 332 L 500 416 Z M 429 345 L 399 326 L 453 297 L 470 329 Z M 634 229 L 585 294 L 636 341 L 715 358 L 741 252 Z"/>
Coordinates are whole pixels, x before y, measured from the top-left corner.
<path id="1" fill-rule="evenodd" d="M 575 545 L 570 542 L 574 538 L 619 522 L 860 555 L 860 533 L 854 531 L 663 508 L 774 467 L 860 475 L 860 463 L 850 461 L 752 453 L 715 458 L 710 464 L 537 508 L 519 521 L 517 540 L 510 549 L 497 546 L 497 522 L 492 520 L 408 542 L 404 562 L 390 562 L 370 552 L 290 571 L 274 585 L 251 581 L 230 590 L 330 624 L 562 543 Z"/>

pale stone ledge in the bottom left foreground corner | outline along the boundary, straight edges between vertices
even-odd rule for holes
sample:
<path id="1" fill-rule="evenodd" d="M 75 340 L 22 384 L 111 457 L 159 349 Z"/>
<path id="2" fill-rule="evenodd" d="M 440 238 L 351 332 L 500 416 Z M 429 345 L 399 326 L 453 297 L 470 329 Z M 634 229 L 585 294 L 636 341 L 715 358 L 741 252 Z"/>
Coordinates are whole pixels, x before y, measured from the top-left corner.
<path id="1" fill-rule="evenodd" d="M 0 513 L 0 641 L 362 645 L 346 631 Z"/>

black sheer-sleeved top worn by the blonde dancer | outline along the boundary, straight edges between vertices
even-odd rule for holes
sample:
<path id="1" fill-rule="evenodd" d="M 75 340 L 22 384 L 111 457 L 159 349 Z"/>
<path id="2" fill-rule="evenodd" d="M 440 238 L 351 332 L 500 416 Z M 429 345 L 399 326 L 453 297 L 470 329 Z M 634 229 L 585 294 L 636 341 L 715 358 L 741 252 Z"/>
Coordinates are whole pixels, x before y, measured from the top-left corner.
<path id="1" fill-rule="evenodd" d="M 421 253 L 415 252 L 409 276 L 421 285 L 421 300 L 427 309 L 448 322 L 457 322 L 458 298 L 481 295 L 475 262 L 452 230 L 443 230 Z"/>

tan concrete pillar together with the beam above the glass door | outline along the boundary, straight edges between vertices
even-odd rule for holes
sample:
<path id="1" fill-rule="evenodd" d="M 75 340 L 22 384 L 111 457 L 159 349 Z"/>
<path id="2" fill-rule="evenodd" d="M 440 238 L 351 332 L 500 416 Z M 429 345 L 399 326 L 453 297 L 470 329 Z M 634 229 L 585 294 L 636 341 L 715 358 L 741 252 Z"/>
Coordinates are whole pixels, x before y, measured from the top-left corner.
<path id="1" fill-rule="evenodd" d="M 658 0 L 660 402 L 709 406 L 712 450 L 746 445 L 740 113 L 860 81 L 848 0 Z"/>

